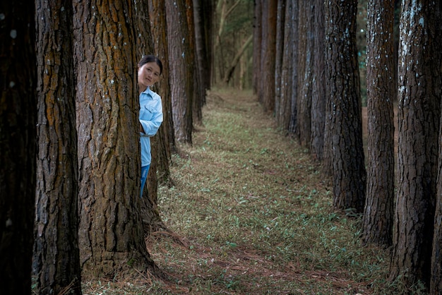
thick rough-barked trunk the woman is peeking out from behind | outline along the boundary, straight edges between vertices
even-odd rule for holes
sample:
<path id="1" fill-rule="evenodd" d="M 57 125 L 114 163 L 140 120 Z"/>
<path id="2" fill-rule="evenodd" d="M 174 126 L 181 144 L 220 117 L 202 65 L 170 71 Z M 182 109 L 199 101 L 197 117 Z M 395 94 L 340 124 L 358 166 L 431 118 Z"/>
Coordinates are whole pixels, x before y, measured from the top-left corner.
<path id="1" fill-rule="evenodd" d="M 156 272 L 140 216 L 136 48 L 131 1 L 73 4 L 82 274 Z"/>

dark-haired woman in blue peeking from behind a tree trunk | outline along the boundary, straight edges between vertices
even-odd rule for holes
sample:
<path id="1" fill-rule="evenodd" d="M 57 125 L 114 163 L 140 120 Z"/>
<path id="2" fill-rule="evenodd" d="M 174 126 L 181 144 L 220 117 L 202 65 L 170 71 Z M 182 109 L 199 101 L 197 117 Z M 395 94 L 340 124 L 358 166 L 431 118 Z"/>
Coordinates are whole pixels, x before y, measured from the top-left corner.
<path id="1" fill-rule="evenodd" d="M 150 90 L 162 73 L 162 63 L 154 55 L 145 55 L 138 62 L 138 88 L 140 90 L 140 143 L 141 143 L 141 190 L 148 178 L 150 167 L 150 137 L 155 136 L 162 123 L 161 97 Z"/>

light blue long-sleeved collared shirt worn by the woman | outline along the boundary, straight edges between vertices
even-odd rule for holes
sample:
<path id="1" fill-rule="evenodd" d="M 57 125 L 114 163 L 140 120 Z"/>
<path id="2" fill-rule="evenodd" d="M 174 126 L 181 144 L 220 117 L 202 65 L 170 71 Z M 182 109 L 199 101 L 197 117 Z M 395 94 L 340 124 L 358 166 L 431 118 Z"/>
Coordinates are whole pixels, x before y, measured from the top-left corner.
<path id="1" fill-rule="evenodd" d="M 162 123 L 161 97 L 149 88 L 140 94 L 140 123 L 144 132 L 140 132 L 141 167 L 150 164 L 150 138 L 155 136 Z"/>

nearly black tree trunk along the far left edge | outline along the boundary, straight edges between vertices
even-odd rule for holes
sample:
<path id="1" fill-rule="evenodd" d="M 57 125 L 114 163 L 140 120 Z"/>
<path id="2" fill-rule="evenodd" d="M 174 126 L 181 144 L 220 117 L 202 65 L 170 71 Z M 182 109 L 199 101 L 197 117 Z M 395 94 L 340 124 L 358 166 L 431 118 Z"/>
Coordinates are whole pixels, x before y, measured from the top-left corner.
<path id="1" fill-rule="evenodd" d="M 1 1 L 0 277 L 4 294 L 30 294 L 37 101 L 35 3 Z"/>

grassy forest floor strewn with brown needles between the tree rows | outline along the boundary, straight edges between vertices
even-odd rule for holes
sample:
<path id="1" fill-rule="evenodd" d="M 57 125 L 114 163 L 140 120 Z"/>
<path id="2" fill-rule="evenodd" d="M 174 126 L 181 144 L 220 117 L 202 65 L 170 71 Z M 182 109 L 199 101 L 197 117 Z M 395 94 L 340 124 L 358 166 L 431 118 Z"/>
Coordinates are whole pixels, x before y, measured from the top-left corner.
<path id="1" fill-rule="evenodd" d="M 362 246 L 362 217 L 333 208 L 328 176 L 251 92 L 213 90 L 148 251 L 167 279 L 83 283 L 83 294 L 398 294 L 389 252 Z"/>

